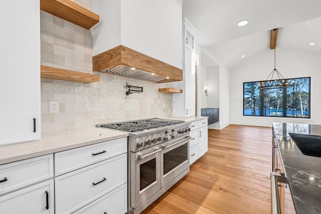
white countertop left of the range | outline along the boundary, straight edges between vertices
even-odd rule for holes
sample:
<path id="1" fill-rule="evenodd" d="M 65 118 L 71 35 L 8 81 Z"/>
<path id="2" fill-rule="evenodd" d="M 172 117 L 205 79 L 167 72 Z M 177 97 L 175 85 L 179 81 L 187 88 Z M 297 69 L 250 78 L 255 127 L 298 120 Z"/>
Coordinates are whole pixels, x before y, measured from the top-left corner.
<path id="1" fill-rule="evenodd" d="M 46 133 L 41 140 L 0 146 L 0 165 L 127 136 L 125 132 L 96 127 Z"/>

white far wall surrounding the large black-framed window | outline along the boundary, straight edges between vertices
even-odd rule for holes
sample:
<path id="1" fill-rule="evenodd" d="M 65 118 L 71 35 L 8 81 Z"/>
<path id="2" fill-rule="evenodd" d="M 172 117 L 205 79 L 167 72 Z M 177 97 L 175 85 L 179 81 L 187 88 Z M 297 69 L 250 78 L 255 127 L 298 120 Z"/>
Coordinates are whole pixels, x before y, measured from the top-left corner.
<path id="1" fill-rule="evenodd" d="M 274 50 L 268 49 L 231 70 L 230 123 L 257 126 L 271 126 L 272 122 L 320 124 L 321 54 L 282 46 L 276 49 L 276 69 L 282 76 L 286 79 L 311 77 L 311 119 L 243 116 L 243 82 L 265 80 L 273 68 Z"/>

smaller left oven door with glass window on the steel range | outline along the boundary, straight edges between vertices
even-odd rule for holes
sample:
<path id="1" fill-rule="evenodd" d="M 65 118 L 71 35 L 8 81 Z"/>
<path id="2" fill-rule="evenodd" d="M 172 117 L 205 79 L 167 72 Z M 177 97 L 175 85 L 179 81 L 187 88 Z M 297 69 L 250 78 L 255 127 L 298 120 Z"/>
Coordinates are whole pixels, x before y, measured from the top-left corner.
<path id="1" fill-rule="evenodd" d="M 130 205 L 137 208 L 161 189 L 161 148 L 153 146 L 130 152 Z"/>

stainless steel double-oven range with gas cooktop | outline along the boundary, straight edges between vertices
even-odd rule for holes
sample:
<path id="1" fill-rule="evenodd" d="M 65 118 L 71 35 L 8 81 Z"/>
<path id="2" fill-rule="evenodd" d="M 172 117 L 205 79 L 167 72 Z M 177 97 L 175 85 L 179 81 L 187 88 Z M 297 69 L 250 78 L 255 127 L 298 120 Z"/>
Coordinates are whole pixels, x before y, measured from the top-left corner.
<path id="1" fill-rule="evenodd" d="M 190 123 L 149 118 L 97 124 L 128 132 L 128 200 L 140 213 L 190 171 Z"/>

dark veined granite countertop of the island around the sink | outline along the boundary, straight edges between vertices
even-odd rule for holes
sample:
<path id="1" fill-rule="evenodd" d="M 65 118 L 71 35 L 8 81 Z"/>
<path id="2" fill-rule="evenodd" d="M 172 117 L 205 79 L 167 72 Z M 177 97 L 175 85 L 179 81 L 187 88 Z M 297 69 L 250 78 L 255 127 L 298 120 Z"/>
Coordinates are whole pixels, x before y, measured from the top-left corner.
<path id="1" fill-rule="evenodd" d="M 288 133 L 321 136 L 321 125 L 273 123 L 297 213 L 321 213 L 321 157 L 302 154 Z"/>

